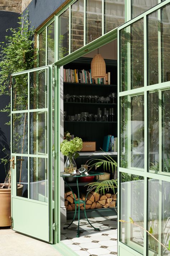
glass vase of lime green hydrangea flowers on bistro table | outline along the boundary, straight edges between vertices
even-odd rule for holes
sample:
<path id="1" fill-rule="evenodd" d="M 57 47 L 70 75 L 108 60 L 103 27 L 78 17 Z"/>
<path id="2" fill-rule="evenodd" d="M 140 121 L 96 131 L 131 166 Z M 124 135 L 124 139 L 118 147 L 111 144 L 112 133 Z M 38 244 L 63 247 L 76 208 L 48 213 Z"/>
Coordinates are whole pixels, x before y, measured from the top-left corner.
<path id="1" fill-rule="evenodd" d="M 67 157 L 64 164 L 64 171 L 71 174 L 77 169 L 75 159 L 79 157 L 79 153 L 82 149 L 82 139 L 79 137 L 73 138 L 67 131 L 64 136 L 63 142 L 60 144 L 61 153 Z"/>

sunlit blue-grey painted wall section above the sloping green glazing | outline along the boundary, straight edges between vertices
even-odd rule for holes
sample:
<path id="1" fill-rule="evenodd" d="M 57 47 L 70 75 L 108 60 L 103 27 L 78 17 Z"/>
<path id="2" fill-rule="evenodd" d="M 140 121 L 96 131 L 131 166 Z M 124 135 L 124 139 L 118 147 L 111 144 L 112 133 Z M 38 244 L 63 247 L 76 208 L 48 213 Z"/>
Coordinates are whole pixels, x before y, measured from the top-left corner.
<path id="1" fill-rule="evenodd" d="M 39 27 L 64 2 L 65 0 L 32 0 L 28 5 L 31 26 Z"/>

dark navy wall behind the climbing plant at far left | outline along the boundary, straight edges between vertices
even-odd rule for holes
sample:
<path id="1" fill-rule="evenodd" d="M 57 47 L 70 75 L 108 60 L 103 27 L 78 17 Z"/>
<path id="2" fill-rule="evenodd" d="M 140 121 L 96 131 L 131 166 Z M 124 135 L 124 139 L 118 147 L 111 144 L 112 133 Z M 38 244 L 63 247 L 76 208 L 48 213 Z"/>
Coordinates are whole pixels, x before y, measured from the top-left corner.
<path id="1" fill-rule="evenodd" d="M 18 16 L 18 13 L 0 11 L 0 42 L 4 42 L 5 36 L 10 34 L 10 31 L 6 32 L 8 28 L 18 27 Z M 9 101 L 9 96 L 0 96 L 0 109 L 3 109 L 9 103 Z M 9 122 L 8 114 L 0 112 L 0 158 L 5 156 L 4 152 L 2 151 L 4 146 L 8 153 L 10 152 L 10 127 L 5 125 L 6 122 Z M 5 176 L 5 169 L 3 164 L 1 164 L 0 183 L 4 181 Z"/>

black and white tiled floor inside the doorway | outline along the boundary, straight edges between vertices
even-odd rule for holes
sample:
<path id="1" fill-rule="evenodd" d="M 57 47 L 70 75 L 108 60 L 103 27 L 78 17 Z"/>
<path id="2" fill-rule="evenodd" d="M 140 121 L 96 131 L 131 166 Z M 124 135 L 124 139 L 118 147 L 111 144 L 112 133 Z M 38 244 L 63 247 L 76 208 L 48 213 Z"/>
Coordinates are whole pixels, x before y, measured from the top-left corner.
<path id="1" fill-rule="evenodd" d="M 72 230 L 64 230 L 67 224 L 61 224 L 61 241 L 69 246 L 80 256 L 111 256 L 117 255 L 117 217 L 96 217 L 89 218 L 90 223 L 100 231 L 85 231 L 76 237 L 74 229 L 77 228 L 78 221 L 71 225 Z M 90 229 L 86 219 L 80 220 L 80 229 Z"/>

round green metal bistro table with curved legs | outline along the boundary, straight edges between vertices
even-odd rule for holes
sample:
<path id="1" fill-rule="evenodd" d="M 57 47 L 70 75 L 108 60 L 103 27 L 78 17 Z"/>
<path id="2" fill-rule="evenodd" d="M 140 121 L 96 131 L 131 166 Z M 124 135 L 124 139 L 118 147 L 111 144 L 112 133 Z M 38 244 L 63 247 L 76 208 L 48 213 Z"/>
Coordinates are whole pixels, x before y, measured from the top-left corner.
<path id="1" fill-rule="evenodd" d="M 88 174 L 89 175 L 85 175 L 85 174 L 81 174 L 81 175 L 74 175 L 72 177 L 76 178 L 76 184 L 77 184 L 77 200 L 75 198 L 75 195 L 74 195 L 74 192 L 72 190 L 72 188 L 70 187 L 70 185 L 67 183 L 66 179 L 67 177 L 70 177 L 70 176 L 65 176 L 64 175 L 65 172 L 61 172 L 60 176 L 63 178 L 64 182 L 67 184 L 67 186 L 69 187 L 69 189 L 71 190 L 73 196 L 74 196 L 74 202 L 75 202 L 75 214 L 74 214 L 74 217 L 73 217 L 73 220 L 71 221 L 70 225 L 65 227 L 64 229 L 70 229 L 70 230 L 73 230 L 71 228 L 69 228 L 71 226 L 71 224 L 73 223 L 73 221 L 75 220 L 75 217 L 76 217 L 76 212 L 77 212 L 77 207 L 76 205 L 78 205 L 78 228 L 76 229 L 77 231 L 77 236 L 76 237 L 79 237 L 80 235 L 80 232 L 84 232 L 84 231 L 92 231 L 92 230 L 97 230 L 99 231 L 100 229 L 99 228 L 95 228 L 91 223 L 90 221 L 88 220 L 88 217 L 86 215 L 86 208 L 85 208 L 85 203 L 86 203 L 86 199 L 87 199 L 87 196 L 88 194 L 90 193 L 90 191 L 88 191 L 86 193 L 86 197 L 85 197 L 85 200 L 80 200 L 80 193 L 79 193 L 79 178 L 80 177 L 85 177 L 85 176 L 97 176 L 97 175 L 103 175 L 104 173 L 103 172 L 93 172 L 93 171 L 89 171 Z M 98 176 L 98 180 L 99 180 L 99 176 Z M 97 180 L 97 181 L 98 181 Z M 96 181 L 96 182 L 97 182 Z M 90 224 L 90 226 L 93 228 L 93 229 L 83 229 L 83 230 L 80 230 L 80 204 L 84 204 L 84 215 L 86 217 L 86 220 L 88 221 L 88 223 Z"/>

